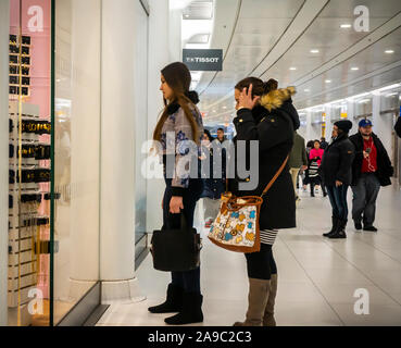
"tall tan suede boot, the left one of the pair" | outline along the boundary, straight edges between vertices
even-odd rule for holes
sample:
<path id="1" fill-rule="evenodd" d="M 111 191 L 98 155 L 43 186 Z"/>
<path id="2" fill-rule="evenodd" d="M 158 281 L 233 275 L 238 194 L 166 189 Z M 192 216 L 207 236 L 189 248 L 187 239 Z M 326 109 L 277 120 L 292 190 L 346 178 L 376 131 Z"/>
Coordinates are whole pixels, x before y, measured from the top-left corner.
<path id="1" fill-rule="evenodd" d="M 262 326 L 270 288 L 271 281 L 249 278 L 247 319 L 236 322 L 234 326 Z"/>

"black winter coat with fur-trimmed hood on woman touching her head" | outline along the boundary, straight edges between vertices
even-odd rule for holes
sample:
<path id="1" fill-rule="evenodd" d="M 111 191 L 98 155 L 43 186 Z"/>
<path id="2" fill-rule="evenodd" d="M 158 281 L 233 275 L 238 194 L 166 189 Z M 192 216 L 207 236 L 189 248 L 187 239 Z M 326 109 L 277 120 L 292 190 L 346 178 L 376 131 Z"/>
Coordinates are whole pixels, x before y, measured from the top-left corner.
<path id="1" fill-rule="evenodd" d="M 290 88 L 272 91 L 261 99 L 260 107 L 255 107 L 252 111 L 249 109 L 238 111 L 234 120 L 237 129 L 235 142 L 259 140 L 259 185 L 254 190 L 240 191 L 238 185 L 246 179 L 236 175 L 235 179 L 229 179 L 229 189 L 235 196 L 261 196 L 290 153 L 293 146 L 293 129 L 295 126 L 297 127 L 297 122 L 292 120 L 299 122 L 297 110 L 287 104 L 291 102 L 288 96 L 293 92 L 295 90 Z M 285 112 L 280 108 L 283 105 L 291 114 Z M 287 163 L 280 176 L 263 198 L 260 228 L 292 228 L 296 226 L 296 198 Z"/>

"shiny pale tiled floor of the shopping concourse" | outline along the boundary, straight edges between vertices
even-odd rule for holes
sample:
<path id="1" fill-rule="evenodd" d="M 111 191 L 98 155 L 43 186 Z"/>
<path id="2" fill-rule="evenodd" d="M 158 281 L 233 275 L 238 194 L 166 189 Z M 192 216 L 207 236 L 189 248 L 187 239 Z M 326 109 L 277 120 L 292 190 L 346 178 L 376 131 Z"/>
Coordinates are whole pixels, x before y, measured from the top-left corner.
<path id="1" fill-rule="evenodd" d="M 376 226 L 379 232 L 355 233 L 347 240 L 328 240 L 327 199 L 301 192 L 298 228 L 281 231 L 274 246 L 279 284 L 278 325 L 401 325 L 401 191 L 380 191 Z M 351 194 L 349 194 L 351 206 Z M 203 325 L 231 325 L 245 316 L 248 283 L 242 254 L 221 250 L 204 238 L 202 253 Z M 137 273 L 147 300 L 114 304 L 98 325 L 164 325 L 165 315 L 149 306 L 164 299 L 168 274 L 152 269 L 148 257 Z M 368 314 L 354 312 L 356 289 L 368 294 Z M 365 307 L 366 308 L 366 307 Z"/>

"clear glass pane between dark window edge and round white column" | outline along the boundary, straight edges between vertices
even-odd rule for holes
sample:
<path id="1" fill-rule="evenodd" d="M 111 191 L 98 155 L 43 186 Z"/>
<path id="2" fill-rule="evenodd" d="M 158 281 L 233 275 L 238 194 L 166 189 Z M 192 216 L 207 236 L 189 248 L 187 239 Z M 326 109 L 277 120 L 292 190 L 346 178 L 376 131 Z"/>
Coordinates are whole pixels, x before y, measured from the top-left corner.
<path id="1" fill-rule="evenodd" d="M 57 325 L 99 281 L 101 1 L 54 5 Z"/>

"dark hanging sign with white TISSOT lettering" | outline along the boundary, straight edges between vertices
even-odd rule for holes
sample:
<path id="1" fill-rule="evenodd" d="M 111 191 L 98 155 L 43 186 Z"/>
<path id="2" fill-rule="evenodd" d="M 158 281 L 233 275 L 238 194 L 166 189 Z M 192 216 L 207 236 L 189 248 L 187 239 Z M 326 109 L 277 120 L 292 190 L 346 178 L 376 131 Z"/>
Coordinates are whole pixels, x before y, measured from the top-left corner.
<path id="1" fill-rule="evenodd" d="M 221 72 L 223 50 L 183 50 L 183 62 L 190 71 Z"/>

